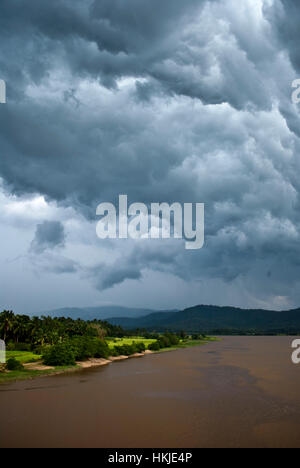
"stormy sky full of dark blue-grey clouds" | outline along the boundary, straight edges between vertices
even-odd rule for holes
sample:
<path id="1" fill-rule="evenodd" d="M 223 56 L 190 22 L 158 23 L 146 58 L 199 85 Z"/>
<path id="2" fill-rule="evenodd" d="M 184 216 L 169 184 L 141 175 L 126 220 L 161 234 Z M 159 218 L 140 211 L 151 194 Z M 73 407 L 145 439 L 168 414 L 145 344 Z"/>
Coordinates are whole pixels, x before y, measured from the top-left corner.
<path id="1" fill-rule="evenodd" d="M 0 309 L 300 306 L 299 0 L 1 0 Z M 206 205 L 205 246 L 96 207 Z"/>

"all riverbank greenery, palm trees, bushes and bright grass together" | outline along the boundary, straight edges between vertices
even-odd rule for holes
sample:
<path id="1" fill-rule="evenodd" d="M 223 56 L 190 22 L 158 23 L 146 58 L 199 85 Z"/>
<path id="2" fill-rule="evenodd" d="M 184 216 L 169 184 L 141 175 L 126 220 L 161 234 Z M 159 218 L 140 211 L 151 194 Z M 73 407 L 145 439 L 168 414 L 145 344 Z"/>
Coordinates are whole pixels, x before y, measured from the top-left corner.
<path id="1" fill-rule="evenodd" d="M 158 352 L 202 344 L 201 335 L 150 333 L 135 330 L 128 336 L 120 326 L 94 320 L 28 317 L 4 311 L 0 314 L 0 339 L 7 345 L 7 364 L 0 368 L 0 382 L 67 371 L 91 358 L 131 356 L 147 349 Z M 137 336 L 140 334 L 140 336 Z M 36 366 L 25 366 L 40 361 Z M 52 370 L 40 368 L 40 365 Z M 40 369 L 40 370 L 38 370 Z"/>

